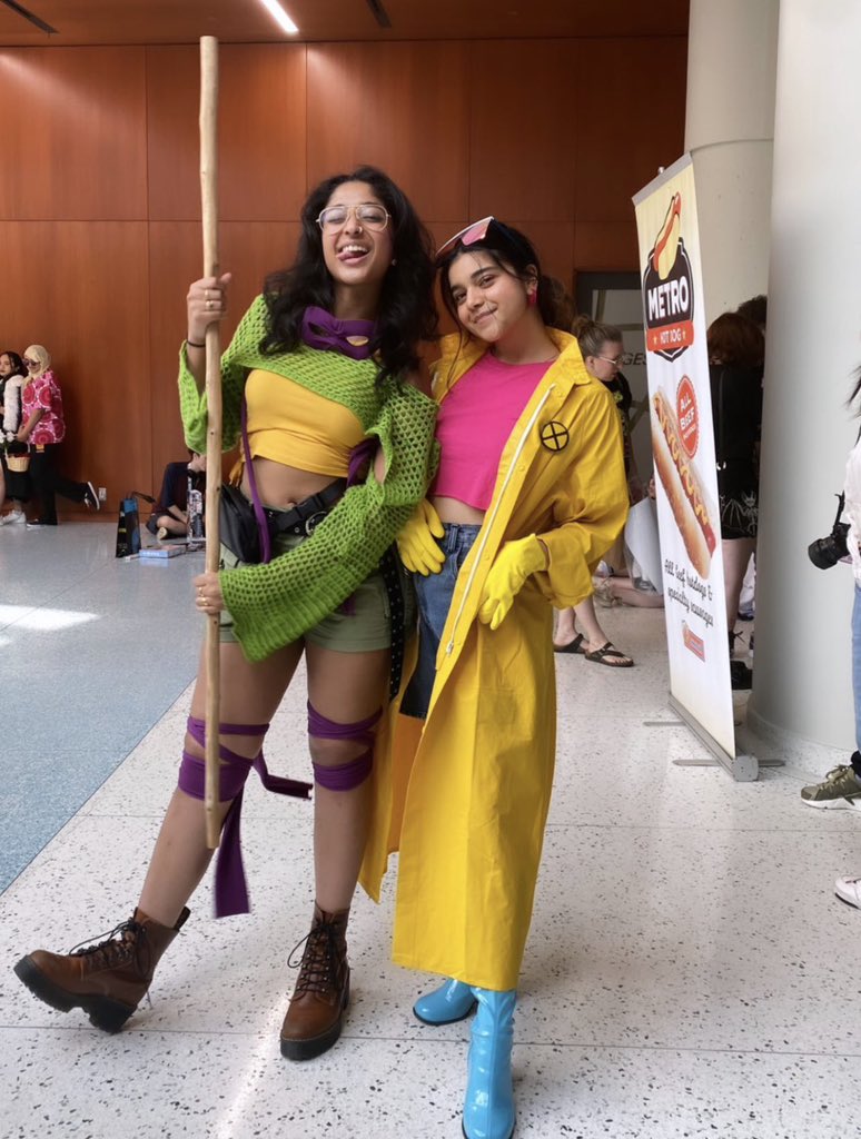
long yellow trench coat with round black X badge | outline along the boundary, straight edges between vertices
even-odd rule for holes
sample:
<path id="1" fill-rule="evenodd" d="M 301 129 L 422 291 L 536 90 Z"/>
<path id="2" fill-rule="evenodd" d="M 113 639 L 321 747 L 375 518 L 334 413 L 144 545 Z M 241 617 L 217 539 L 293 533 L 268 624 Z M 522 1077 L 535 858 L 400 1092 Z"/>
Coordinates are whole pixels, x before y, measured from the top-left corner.
<path id="1" fill-rule="evenodd" d="M 458 577 L 424 729 L 399 715 L 393 746 L 388 731 L 379 740 L 361 877 L 378 899 L 387 855 L 400 850 L 394 960 L 495 990 L 517 986 L 552 788 L 548 603 L 563 608 L 592 592 L 592 567 L 628 513 L 613 396 L 587 372 L 573 336 L 550 335 L 560 355 L 502 452 Z M 458 353 L 458 344 L 443 344 L 440 401 L 483 352 L 467 344 Z M 487 571 L 503 542 L 527 534 L 546 544 L 548 568 L 491 631 L 476 616 Z"/>

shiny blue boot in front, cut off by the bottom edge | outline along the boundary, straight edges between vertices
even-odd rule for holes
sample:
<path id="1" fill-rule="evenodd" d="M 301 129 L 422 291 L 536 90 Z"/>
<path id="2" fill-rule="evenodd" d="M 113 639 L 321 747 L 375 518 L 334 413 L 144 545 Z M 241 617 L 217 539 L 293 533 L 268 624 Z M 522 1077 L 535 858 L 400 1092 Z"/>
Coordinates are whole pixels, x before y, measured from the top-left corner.
<path id="1" fill-rule="evenodd" d="M 511 1042 L 517 993 L 473 989 L 478 1011 L 467 1060 L 464 1134 L 467 1139 L 511 1139 L 515 1124 Z"/>

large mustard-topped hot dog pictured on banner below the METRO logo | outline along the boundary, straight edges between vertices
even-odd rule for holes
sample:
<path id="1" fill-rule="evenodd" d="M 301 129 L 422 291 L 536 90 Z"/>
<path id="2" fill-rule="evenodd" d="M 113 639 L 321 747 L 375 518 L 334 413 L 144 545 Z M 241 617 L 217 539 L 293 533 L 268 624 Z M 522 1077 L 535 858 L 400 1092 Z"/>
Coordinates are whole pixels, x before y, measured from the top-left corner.
<path id="1" fill-rule="evenodd" d="M 659 390 L 651 401 L 651 449 L 690 563 L 700 577 L 707 577 L 718 544 L 718 513 L 682 446 L 672 403 Z"/>

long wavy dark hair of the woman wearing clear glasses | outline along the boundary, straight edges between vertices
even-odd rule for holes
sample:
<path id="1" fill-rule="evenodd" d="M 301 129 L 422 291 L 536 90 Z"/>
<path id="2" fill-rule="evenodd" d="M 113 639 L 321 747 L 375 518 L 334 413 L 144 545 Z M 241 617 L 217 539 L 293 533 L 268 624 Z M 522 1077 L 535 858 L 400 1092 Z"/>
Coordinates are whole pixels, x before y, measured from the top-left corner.
<path id="1" fill-rule="evenodd" d="M 295 261 L 288 269 L 270 273 L 263 285 L 270 330 L 261 351 L 269 355 L 293 351 L 302 338 L 305 309 L 317 305 L 331 310 L 335 290 L 317 219 L 344 182 L 367 182 L 391 214 L 393 262 L 383 280 L 370 350 L 379 353 L 377 383 L 390 377 L 400 380 L 419 367 L 419 343 L 437 337 L 433 241 L 403 190 L 375 166 L 358 166 L 347 174 L 327 178 L 309 195 L 302 207 Z"/>

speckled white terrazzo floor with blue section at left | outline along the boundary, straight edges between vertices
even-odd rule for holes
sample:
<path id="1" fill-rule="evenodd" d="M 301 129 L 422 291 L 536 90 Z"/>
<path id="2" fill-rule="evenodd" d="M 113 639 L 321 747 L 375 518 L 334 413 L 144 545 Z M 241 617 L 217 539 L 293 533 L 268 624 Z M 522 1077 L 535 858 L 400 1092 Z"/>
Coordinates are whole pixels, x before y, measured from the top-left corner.
<path id="1" fill-rule="evenodd" d="M 254 780 L 253 913 L 215 923 L 206 883 L 122 1033 L 48 1009 L 14 976 L 23 952 L 67 950 L 130 913 L 175 780 L 200 556 L 122 563 L 112 542 L 100 523 L 0 531 L 0 1136 L 456 1139 L 468 1024 L 411 1016 L 432 978 L 388 960 L 392 876 L 379 907 L 356 899 L 342 1040 L 302 1065 L 280 1057 L 311 812 Z M 735 784 L 676 765 L 706 753 L 666 704 L 663 614 L 599 616 L 637 666 L 557 658 L 516 1139 L 861 1136 L 861 912 L 833 894 L 861 871 L 861 812 L 803 806 L 797 771 Z M 303 707 L 300 677 L 268 745 L 296 776 Z"/>

